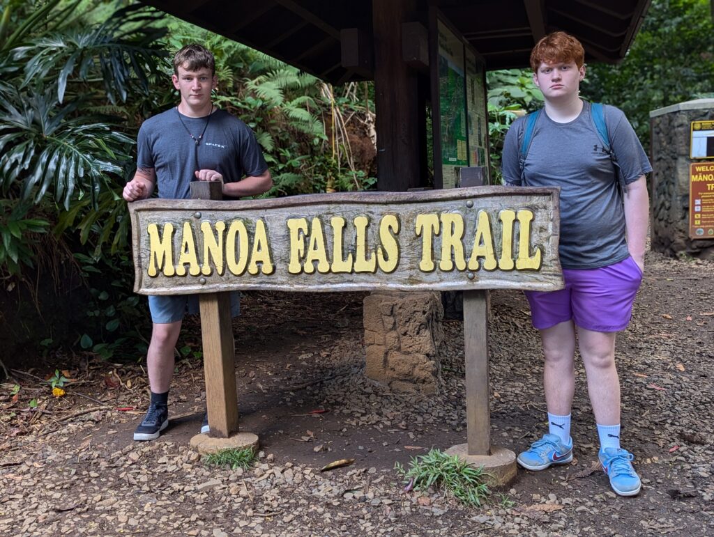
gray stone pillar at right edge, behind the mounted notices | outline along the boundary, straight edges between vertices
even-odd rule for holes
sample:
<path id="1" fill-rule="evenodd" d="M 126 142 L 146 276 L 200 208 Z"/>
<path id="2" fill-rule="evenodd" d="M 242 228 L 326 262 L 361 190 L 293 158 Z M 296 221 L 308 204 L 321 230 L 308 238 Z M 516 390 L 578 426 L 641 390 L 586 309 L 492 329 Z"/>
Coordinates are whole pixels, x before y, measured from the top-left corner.
<path id="1" fill-rule="evenodd" d="M 690 124 L 714 119 L 714 99 L 679 103 L 650 112 L 652 140 L 652 250 L 714 258 L 714 240 L 689 238 Z"/>

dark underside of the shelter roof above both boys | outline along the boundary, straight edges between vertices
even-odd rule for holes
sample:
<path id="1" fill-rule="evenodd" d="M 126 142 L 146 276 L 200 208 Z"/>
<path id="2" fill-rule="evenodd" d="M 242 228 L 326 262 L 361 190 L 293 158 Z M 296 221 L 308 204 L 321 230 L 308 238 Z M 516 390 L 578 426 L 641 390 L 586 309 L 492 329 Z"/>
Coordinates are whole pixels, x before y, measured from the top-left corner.
<path id="1" fill-rule="evenodd" d="M 389 0 L 144 0 L 166 13 L 268 53 L 332 83 L 363 80 L 341 62 L 341 30 L 372 34 L 373 5 Z M 416 0 L 425 26 L 436 6 L 486 60 L 488 69 L 525 67 L 531 48 L 563 30 L 586 61 L 625 56 L 650 0 Z"/>

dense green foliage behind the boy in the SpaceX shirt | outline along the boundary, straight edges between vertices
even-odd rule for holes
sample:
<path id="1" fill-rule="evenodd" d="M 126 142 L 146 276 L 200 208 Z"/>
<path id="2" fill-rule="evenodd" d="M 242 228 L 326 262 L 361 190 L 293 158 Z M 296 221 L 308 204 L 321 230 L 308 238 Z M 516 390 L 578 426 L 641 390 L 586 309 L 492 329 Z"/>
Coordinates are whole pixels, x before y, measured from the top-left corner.
<path id="1" fill-rule="evenodd" d="M 256 132 L 275 182 L 267 195 L 375 182 L 351 147 L 373 124 L 354 85 L 331 88 L 137 3 L 10 0 L 1 10 L 0 277 L 74 266 L 91 297 L 77 319 L 82 349 L 110 357 L 145 347 L 121 190 L 141 121 L 178 102 L 169 56 L 183 44 L 216 53 L 214 101 Z"/>

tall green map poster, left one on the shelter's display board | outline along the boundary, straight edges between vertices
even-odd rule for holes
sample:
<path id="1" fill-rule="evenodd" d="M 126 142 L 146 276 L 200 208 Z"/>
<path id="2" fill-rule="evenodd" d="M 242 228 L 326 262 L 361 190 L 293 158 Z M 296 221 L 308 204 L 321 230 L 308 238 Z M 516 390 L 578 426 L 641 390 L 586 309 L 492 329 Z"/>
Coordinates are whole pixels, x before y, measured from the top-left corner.
<path id="1" fill-rule="evenodd" d="M 468 165 L 463 43 L 438 21 L 439 117 L 443 188 L 456 186 L 458 168 Z"/>

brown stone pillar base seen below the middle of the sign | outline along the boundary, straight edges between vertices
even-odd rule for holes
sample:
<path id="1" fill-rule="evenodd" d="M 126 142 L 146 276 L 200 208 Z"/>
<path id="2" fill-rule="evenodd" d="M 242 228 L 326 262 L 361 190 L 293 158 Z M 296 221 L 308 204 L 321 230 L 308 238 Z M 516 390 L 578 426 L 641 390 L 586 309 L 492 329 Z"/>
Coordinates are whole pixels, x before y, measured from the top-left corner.
<path id="1" fill-rule="evenodd" d="M 364 299 L 367 377 L 396 392 L 438 392 L 443 307 L 435 292 L 381 292 Z"/>

